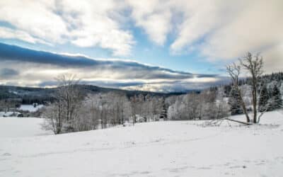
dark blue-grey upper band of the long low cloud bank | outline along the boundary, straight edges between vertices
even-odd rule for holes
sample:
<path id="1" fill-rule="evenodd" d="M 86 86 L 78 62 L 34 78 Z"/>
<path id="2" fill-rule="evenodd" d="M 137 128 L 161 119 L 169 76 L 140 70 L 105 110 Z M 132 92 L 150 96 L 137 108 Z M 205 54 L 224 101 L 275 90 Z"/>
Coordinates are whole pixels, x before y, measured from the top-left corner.
<path id="1" fill-rule="evenodd" d="M 13 45 L 0 43 L 0 59 L 6 62 L 25 62 L 52 65 L 62 69 L 110 70 L 120 72 L 120 79 L 189 79 L 196 77 L 213 77 L 214 75 L 191 74 L 171 69 L 153 67 L 138 62 L 124 60 L 100 60 L 83 56 L 57 55 L 50 52 L 28 50 Z"/>

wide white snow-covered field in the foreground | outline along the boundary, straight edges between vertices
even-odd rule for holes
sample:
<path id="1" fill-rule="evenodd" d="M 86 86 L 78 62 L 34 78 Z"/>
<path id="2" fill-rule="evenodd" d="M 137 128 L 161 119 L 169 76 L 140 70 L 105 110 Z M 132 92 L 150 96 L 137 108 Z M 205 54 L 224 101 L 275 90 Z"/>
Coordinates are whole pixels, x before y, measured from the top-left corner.
<path id="1" fill-rule="evenodd" d="M 34 125 L 18 120 L 23 127 Z M 23 127 L 0 121 L 0 130 L 4 126 L 0 176 L 5 177 L 263 177 L 283 173 L 283 115 L 278 111 L 266 113 L 261 125 L 253 126 L 223 122 L 220 127 L 203 127 L 202 121 L 168 121 L 34 137 L 23 137 L 25 130 L 18 137 L 10 136 Z"/>

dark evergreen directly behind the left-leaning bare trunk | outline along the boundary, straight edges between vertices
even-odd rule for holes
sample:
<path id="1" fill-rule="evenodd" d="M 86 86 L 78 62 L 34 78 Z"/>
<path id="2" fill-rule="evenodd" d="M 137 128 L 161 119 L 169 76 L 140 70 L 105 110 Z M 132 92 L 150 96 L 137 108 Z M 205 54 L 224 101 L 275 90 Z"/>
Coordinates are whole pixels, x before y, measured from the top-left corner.
<path id="1" fill-rule="evenodd" d="M 238 115 L 243 113 L 243 109 L 241 107 L 241 98 L 238 94 L 238 91 L 233 86 L 231 87 L 228 103 L 230 105 L 231 115 Z"/>

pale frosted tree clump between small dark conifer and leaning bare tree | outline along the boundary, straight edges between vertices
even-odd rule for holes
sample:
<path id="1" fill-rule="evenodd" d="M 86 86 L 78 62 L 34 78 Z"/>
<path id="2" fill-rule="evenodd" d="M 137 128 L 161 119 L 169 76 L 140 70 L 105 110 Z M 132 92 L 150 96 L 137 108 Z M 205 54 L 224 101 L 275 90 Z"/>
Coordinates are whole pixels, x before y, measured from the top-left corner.
<path id="1" fill-rule="evenodd" d="M 227 116 L 229 107 L 222 89 L 206 89 L 168 99 L 169 120 L 209 120 Z"/>

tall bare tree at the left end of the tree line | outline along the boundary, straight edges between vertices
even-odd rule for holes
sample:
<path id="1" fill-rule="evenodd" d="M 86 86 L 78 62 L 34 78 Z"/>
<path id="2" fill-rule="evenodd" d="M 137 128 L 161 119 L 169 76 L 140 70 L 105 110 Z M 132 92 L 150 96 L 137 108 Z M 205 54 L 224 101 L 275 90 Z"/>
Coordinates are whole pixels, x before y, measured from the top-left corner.
<path id="1" fill-rule="evenodd" d="M 58 87 L 54 93 L 56 100 L 45 112 L 43 117 L 47 118 L 45 128 L 52 127 L 55 134 L 76 131 L 76 118 L 79 106 L 83 100 L 83 93 L 78 84 L 79 79 L 72 74 L 63 74 L 57 77 Z M 49 113 L 48 113 L 49 112 Z"/>

